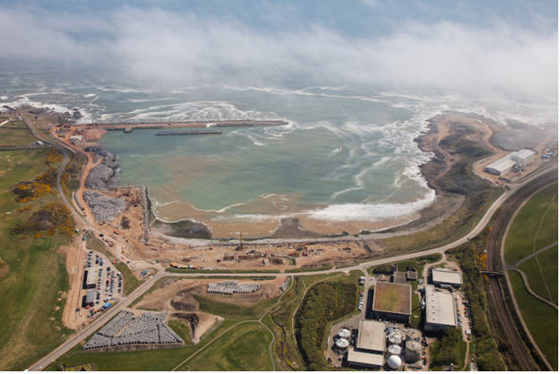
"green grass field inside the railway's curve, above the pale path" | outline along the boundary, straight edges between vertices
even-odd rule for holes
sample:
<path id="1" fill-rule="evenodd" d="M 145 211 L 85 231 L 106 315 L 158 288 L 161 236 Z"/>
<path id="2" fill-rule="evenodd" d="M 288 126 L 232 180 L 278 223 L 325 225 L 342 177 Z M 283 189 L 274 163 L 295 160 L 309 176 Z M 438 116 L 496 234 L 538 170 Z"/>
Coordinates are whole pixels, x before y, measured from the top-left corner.
<path id="1" fill-rule="evenodd" d="M 552 184 L 535 194 L 521 208 L 505 240 L 505 262 L 514 264 L 529 256 L 533 247 L 538 251 L 558 241 L 557 191 L 558 183 Z M 553 198 L 554 204 L 551 206 Z"/>

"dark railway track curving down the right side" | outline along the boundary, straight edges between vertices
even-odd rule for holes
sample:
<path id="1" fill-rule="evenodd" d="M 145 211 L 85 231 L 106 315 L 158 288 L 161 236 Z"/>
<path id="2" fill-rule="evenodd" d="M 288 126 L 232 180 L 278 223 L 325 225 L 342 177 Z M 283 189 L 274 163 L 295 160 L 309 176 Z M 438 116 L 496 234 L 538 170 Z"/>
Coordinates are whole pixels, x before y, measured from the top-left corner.
<path id="1" fill-rule="evenodd" d="M 555 183 L 558 181 L 558 174 L 547 175 L 545 178 L 539 180 L 537 183 L 530 186 L 530 188 L 522 191 L 517 196 L 513 196 L 511 200 L 508 200 L 505 207 L 502 209 L 500 214 L 495 220 L 494 227 L 496 228 L 504 228 L 507 223 L 509 222 L 510 218 L 512 217 L 515 210 L 519 207 L 519 205 L 529 199 L 530 195 L 538 191 L 539 189 L 545 187 L 547 184 Z M 488 270 L 495 270 L 495 259 L 500 258 L 500 245 L 496 245 L 502 239 L 504 235 L 504 230 L 492 230 L 490 236 L 488 237 L 488 245 L 487 245 L 487 267 Z M 504 274 L 507 276 L 507 274 Z M 498 314 L 500 320 L 504 325 L 505 332 L 509 337 L 510 341 L 512 342 L 513 350 L 516 353 L 523 370 L 532 371 L 534 370 L 533 365 L 531 365 L 531 358 L 525 348 L 525 344 L 521 342 L 520 337 L 516 333 L 516 328 L 513 326 L 513 321 L 510 319 L 509 314 L 507 313 L 505 302 L 502 298 L 502 290 L 501 286 L 497 279 L 490 278 L 490 290 L 492 293 L 492 298 L 494 299 L 496 309 L 498 310 Z M 521 318 L 521 316 L 520 316 Z"/>

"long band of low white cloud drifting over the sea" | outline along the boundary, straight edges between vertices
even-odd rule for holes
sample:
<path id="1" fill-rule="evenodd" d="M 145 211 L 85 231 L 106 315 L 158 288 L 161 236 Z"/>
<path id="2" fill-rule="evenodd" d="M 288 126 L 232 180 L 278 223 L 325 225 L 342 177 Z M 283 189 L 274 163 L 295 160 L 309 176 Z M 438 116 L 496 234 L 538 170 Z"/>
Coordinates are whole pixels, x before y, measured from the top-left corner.
<path id="1" fill-rule="evenodd" d="M 295 80 L 553 98 L 558 92 L 557 31 L 513 28 L 499 20 L 491 28 L 409 22 L 383 38 L 352 38 L 323 26 L 262 31 L 235 18 L 159 8 L 124 7 L 103 19 L 0 9 L 0 33 L 4 57 L 102 59 L 135 81 Z"/>

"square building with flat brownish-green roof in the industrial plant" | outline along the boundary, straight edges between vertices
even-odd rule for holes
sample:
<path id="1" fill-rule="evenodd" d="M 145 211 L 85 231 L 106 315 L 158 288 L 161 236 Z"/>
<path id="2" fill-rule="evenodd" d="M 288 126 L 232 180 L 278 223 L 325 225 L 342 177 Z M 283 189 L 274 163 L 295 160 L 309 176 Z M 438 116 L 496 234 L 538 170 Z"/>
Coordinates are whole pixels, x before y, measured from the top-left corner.
<path id="1" fill-rule="evenodd" d="M 394 283 L 376 282 L 372 310 L 375 319 L 409 322 L 412 287 Z"/>

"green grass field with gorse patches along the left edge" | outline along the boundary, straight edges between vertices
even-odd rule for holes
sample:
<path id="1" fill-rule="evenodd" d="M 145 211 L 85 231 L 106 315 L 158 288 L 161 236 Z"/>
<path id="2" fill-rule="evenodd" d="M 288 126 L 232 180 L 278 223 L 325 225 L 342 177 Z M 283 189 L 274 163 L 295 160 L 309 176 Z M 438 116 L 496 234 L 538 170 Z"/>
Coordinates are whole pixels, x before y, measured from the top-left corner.
<path id="1" fill-rule="evenodd" d="M 56 200 L 56 195 L 48 194 L 19 204 L 9 190 L 9 186 L 47 170 L 42 159 L 48 150 L 0 152 L 0 257 L 9 267 L 0 277 L 0 370 L 26 369 L 72 332 L 62 324 L 69 288 L 65 254 L 56 252 L 66 243 L 65 238 L 55 234 L 21 239 L 21 235 L 10 234 L 11 227 Z M 16 211 L 26 205 L 32 208 Z"/>

